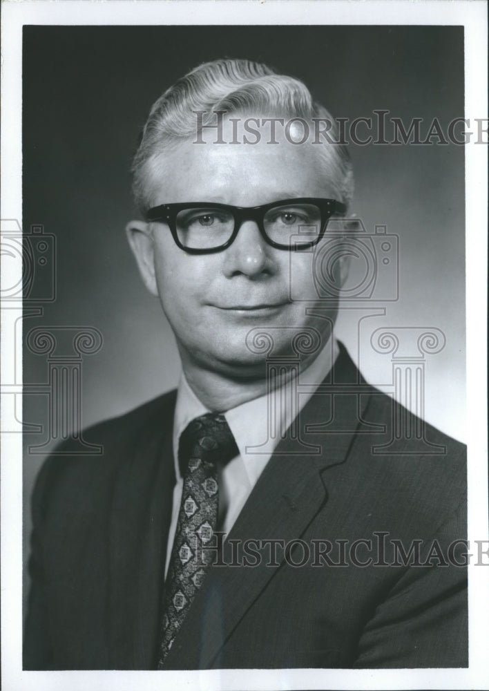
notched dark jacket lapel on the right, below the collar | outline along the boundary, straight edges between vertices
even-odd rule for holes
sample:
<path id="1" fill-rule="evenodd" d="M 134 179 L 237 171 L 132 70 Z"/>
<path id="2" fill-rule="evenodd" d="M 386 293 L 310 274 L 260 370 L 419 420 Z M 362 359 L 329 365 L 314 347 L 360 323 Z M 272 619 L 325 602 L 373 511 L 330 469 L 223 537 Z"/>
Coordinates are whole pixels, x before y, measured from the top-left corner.
<path id="1" fill-rule="evenodd" d="M 278 444 L 224 543 L 224 563 L 233 561 L 233 540 L 242 547 L 250 539 L 280 539 L 287 544 L 300 538 L 323 507 L 327 501 L 327 477 L 323 473 L 345 462 L 354 433 L 363 424 L 368 396 L 358 395 L 358 377 L 358 370 L 342 349 L 332 380 L 339 389 L 328 394 L 325 384 L 300 415 L 303 440 L 318 446 L 320 453 L 297 455 L 291 439 Z M 288 455 L 292 450 L 294 455 Z M 209 569 L 166 657 L 166 668 L 220 667 L 219 652 L 225 641 L 276 574 L 283 558 L 277 552 L 276 566 L 267 563 L 270 551 L 266 547 L 256 566 L 227 568 L 216 564 Z M 239 563 L 243 556 L 241 549 Z"/>

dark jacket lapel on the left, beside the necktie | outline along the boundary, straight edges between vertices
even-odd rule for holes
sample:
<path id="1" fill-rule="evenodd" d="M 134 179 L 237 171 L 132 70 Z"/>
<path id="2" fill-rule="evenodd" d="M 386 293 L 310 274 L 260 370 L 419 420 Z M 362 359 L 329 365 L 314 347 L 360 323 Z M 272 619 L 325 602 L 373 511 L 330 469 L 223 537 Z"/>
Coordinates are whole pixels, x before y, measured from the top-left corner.
<path id="1" fill-rule="evenodd" d="M 113 669 L 151 669 L 175 472 L 173 406 L 146 424 L 121 463 L 109 527 L 109 640 Z"/>

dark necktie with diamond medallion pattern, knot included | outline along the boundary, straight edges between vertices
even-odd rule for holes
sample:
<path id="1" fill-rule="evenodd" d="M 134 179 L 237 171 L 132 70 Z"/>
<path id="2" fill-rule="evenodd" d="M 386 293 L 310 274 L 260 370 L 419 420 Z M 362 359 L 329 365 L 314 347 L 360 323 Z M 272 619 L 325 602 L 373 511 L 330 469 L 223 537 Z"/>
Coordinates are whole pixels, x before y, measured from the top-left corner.
<path id="1" fill-rule="evenodd" d="M 184 484 L 164 588 L 159 670 L 213 560 L 213 550 L 202 550 L 202 545 L 211 540 L 218 518 L 217 465 L 238 453 L 224 415 L 201 415 L 180 437 L 178 461 Z"/>

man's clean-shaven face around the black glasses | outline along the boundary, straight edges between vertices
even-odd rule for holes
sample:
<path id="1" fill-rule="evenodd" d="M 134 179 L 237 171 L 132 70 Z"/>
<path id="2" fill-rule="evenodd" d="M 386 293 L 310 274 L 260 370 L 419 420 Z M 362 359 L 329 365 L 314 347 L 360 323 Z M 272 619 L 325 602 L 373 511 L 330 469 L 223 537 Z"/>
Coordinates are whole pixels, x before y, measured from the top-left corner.
<path id="1" fill-rule="evenodd" d="M 224 140 L 231 138 L 224 129 Z M 184 142 L 162 155 L 148 181 L 153 206 L 253 207 L 287 198 L 334 198 L 310 142 L 296 145 L 278 137 L 279 144 L 264 138 L 255 145 L 233 145 L 213 144 L 214 139 L 211 131 L 204 144 Z M 271 247 L 253 221 L 245 221 L 231 247 L 216 254 L 186 254 L 163 223 L 140 225 L 129 236 L 146 285 L 160 297 L 184 366 L 193 363 L 237 379 L 261 377 L 266 356 L 251 352 L 250 330 L 271 334 L 273 356 L 293 352 L 291 341 L 304 327 L 319 330 L 323 344 L 329 337 L 330 321 L 306 314 L 306 307 L 321 303 L 314 289 L 313 252 Z M 296 301 L 291 301 L 291 281 Z M 323 314 L 334 321 L 337 305 L 328 305 Z"/>

